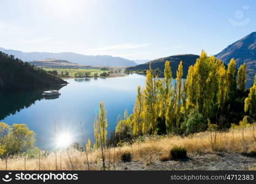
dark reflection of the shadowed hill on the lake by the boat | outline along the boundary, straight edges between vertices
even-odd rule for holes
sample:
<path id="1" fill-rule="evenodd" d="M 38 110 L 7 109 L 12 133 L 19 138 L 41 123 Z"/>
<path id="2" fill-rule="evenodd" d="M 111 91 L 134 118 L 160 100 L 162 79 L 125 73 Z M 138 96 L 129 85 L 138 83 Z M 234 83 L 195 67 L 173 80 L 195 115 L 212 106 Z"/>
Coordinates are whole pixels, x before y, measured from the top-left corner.
<path id="1" fill-rule="evenodd" d="M 1 89 L 0 91 L 0 120 L 6 118 L 9 115 L 14 115 L 16 112 L 24 108 L 28 108 L 34 104 L 37 100 L 44 99 L 42 92 L 46 90 L 60 90 L 63 86 L 56 86 L 52 88 L 42 89 Z M 58 98 L 58 96 L 52 99 Z M 50 98 L 48 98 L 50 99 Z"/>

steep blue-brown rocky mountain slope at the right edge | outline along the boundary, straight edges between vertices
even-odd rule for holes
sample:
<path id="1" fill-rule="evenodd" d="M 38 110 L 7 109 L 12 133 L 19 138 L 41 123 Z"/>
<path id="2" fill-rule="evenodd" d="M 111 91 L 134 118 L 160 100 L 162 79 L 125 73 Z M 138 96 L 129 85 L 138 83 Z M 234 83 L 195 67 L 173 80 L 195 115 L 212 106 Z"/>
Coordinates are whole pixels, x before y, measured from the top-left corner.
<path id="1" fill-rule="evenodd" d="M 256 32 L 228 45 L 215 57 L 221 59 L 225 64 L 228 64 L 231 58 L 235 58 L 237 67 L 246 63 L 247 79 L 254 79 L 256 72 Z"/>

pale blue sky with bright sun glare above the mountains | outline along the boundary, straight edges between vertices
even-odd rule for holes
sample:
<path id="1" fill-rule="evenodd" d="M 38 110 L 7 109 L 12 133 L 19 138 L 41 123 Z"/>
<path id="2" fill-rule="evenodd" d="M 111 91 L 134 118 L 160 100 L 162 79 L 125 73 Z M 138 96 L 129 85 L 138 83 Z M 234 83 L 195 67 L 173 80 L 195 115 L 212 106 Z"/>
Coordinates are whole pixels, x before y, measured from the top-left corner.
<path id="1" fill-rule="evenodd" d="M 255 0 L 0 0 L 0 47 L 132 60 L 215 55 L 256 31 L 255 10 Z"/>

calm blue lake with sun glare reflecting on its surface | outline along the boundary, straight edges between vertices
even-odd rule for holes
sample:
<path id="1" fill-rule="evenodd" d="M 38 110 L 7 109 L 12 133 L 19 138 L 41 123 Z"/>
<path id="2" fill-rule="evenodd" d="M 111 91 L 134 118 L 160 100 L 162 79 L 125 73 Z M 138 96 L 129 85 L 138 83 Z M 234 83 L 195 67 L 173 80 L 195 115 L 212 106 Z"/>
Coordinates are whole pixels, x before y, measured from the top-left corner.
<path id="1" fill-rule="evenodd" d="M 12 125 L 25 123 L 37 136 L 37 144 L 44 149 L 53 148 L 55 126 L 57 132 L 69 132 L 74 142 L 82 143 L 80 122 L 85 139 L 94 142 L 93 122 L 103 101 L 107 111 L 107 131 L 110 134 L 117 125 L 117 116 L 125 109 L 132 113 L 138 85 L 144 86 L 144 75 L 106 79 L 67 79 L 68 85 L 55 99 L 42 98 L 41 90 L 5 91 L 0 93 L 0 122 Z M 47 89 L 48 90 L 48 89 Z M 57 133 L 58 134 L 58 133 Z"/>

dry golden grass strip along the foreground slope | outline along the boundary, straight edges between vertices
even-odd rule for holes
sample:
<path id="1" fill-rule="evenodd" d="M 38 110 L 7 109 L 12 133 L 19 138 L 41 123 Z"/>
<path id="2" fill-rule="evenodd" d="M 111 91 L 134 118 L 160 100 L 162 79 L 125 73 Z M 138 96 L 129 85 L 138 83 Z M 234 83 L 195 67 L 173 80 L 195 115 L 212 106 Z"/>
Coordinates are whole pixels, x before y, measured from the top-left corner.
<path id="1" fill-rule="evenodd" d="M 211 139 L 211 137 L 214 137 Z M 174 146 L 187 148 L 188 155 L 193 153 L 249 153 L 256 149 L 256 126 L 231 129 L 228 132 L 200 132 L 187 137 L 147 137 L 144 142 L 135 142 L 124 145 L 121 148 L 107 148 L 105 151 L 107 169 L 115 169 L 122 153 L 131 152 L 133 161 L 152 163 L 169 154 Z M 58 151 L 58 170 L 87 170 L 86 155 L 84 152 L 69 150 Z M 61 158 L 61 159 L 60 159 Z M 99 150 L 88 153 L 91 170 L 99 170 L 102 167 L 101 152 Z M 26 166 L 25 166 L 26 163 Z M 50 153 L 47 157 L 41 156 L 41 170 L 56 170 L 55 155 Z M 39 159 L 26 159 L 19 156 L 7 160 L 8 170 L 39 170 Z M 74 168 L 73 168 L 74 167 Z M 0 170 L 6 169 L 6 161 L 0 160 Z M 255 169 L 255 168 L 252 168 Z"/>

